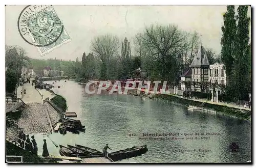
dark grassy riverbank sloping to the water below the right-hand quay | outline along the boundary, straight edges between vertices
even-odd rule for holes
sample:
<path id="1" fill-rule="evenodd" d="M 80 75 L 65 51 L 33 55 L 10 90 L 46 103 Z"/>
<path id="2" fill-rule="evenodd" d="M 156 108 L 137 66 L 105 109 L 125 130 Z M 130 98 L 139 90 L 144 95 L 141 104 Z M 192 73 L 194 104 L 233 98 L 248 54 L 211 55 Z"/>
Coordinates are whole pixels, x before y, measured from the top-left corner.
<path id="1" fill-rule="evenodd" d="M 217 112 L 217 114 L 220 114 L 220 115 L 224 114 L 226 116 L 232 116 L 232 117 L 236 117 L 243 120 L 247 120 L 251 116 L 251 111 L 249 110 L 237 109 L 237 108 L 232 108 L 225 105 L 211 104 L 207 102 L 194 101 L 194 100 L 176 97 L 173 95 L 155 94 L 153 96 L 153 99 L 162 99 L 170 102 L 175 102 L 177 104 L 183 104 L 186 106 L 191 105 L 196 107 L 213 109 Z"/>

